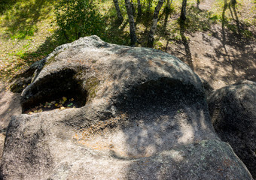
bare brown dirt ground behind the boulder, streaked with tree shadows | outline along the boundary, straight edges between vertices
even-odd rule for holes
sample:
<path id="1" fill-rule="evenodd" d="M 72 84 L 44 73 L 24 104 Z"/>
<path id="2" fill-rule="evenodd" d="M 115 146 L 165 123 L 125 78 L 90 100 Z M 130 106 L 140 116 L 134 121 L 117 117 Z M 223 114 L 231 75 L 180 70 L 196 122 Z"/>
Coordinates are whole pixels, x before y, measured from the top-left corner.
<path id="1" fill-rule="evenodd" d="M 197 7 L 209 10 L 215 0 L 205 0 Z M 239 13 L 239 17 L 248 16 L 247 9 L 254 4 L 248 3 L 244 11 L 235 12 L 228 8 L 223 12 Z M 233 16 L 234 16 L 233 15 Z M 243 28 L 239 17 L 233 17 L 233 23 Z M 166 52 L 186 62 L 201 79 L 206 80 L 212 89 L 220 89 L 240 80 L 256 81 L 256 28 L 249 27 L 254 39 L 242 37 L 230 31 L 224 24 L 215 24 L 209 31 L 185 33 L 187 37 L 168 46 Z"/>

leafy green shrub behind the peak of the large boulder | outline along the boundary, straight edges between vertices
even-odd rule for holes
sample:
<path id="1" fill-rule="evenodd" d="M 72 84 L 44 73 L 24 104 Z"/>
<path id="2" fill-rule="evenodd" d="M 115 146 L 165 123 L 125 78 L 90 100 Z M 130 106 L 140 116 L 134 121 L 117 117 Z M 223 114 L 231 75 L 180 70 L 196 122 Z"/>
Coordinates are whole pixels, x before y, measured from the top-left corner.
<path id="1" fill-rule="evenodd" d="M 59 0 L 55 7 L 58 34 L 66 40 L 97 34 L 102 31 L 102 19 L 91 0 Z"/>

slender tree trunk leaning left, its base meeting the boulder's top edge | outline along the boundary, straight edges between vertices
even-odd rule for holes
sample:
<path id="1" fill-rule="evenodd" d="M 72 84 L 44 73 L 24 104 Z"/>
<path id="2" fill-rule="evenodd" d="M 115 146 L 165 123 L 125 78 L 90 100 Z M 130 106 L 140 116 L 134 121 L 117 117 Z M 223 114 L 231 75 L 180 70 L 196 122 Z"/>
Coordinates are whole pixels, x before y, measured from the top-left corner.
<path id="1" fill-rule="evenodd" d="M 129 18 L 129 24 L 130 24 L 131 45 L 134 46 L 137 42 L 137 37 L 136 37 L 136 29 L 135 29 L 135 23 L 133 18 L 133 10 L 131 7 L 130 0 L 125 0 L 125 6 L 126 6 L 127 15 Z"/>

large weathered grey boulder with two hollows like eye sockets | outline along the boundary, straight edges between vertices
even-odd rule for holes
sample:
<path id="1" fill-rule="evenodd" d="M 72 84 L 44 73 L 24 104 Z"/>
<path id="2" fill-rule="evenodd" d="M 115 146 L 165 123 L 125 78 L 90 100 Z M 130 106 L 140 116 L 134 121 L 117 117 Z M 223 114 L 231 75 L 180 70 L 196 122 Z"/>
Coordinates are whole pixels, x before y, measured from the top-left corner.
<path id="1" fill-rule="evenodd" d="M 178 58 L 91 36 L 37 67 L 23 112 L 68 95 L 81 107 L 12 118 L 3 179 L 252 179 L 218 139 L 202 83 Z"/>

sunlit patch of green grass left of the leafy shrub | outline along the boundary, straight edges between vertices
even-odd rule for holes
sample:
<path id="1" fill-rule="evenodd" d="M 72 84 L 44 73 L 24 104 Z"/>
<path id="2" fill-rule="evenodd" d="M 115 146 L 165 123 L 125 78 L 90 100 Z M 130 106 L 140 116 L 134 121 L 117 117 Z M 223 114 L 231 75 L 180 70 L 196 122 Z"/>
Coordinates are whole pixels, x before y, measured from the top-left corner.
<path id="1" fill-rule="evenodd" d="M 53 0 L 0 2 L 0 79 L 8 80 L 54 49 Z"/>

